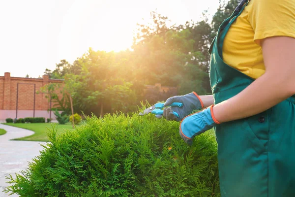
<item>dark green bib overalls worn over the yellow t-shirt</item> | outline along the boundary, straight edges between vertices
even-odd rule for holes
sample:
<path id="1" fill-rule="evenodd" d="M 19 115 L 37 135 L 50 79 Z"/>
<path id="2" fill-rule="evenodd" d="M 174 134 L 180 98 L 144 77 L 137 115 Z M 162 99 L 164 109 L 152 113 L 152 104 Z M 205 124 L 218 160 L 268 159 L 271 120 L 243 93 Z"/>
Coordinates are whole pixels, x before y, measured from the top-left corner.
<path id="1" fill-rule="evenodd" d="M 225 35 L 248 2 L 221 24 L 211 44 L 214 104 L 234 97 L 254 81 L 222 59 Z M 294 97 L 260 114 L 222 123 L 215 132 L 222 197 L 295 197 Z"/>

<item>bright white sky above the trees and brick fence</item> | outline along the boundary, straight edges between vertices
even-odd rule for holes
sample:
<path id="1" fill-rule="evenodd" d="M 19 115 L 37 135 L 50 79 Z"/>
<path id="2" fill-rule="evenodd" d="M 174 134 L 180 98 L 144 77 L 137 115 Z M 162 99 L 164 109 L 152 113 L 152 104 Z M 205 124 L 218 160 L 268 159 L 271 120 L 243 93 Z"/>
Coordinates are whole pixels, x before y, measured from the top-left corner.
<path id="1" fill-rule="evenodd" d="M 150 11 L 179 25 L 199 21 L 204 10 L 212 17 L 218 6 L 219 0 L 0 0 L 0 76 L 42 76 L 89 47 L 130 48 L 136 24 Z"/>

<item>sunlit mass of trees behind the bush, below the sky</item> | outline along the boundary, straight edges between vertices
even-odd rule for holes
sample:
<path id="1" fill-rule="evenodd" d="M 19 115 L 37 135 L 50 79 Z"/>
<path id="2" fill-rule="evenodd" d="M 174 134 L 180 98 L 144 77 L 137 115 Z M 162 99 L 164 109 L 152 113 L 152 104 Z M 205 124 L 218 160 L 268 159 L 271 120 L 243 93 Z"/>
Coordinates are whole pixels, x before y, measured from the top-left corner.
<path id="1" fill-rule="evenodd" d="M 204 17 L 202 21 L 176 26 L 167 16 L 153 11 L 147 23 L 138 24 L 132 50 L 115 53 L 90 48 L 73 64 L 61 60 L 55 70 L 46 69 L 45 73 L 50 78 L 65 79 L 70 85 L 74 111 L 85 114 L 134 111 L 141 100 L 152 100 L 144 89 L 155 83 L 178 87 L 179 95 L 192 91 L 211 94 L 207 51 L 237 1 L 220 0 L 210 24 Z M 150 98 L 154 98 L 152 94 Z M 173 95 L 159 99 L 167 96 Z"/>

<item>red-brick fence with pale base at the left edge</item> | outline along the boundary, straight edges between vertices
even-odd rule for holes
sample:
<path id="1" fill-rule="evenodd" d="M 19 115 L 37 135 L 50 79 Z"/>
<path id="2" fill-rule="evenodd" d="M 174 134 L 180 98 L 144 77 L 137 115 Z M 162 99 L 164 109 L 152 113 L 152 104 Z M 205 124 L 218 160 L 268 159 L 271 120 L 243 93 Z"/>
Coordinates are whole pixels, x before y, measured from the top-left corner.
<path id="1" fill-rule="evenodd" d="M 43 93 L 36 94 L 48 83 L 62 83 L 62 80 L 11 77 L 9 72 L 0 76 L 0 120 L 6 118 L 44 117 L 53 118 L 50 114 L 50 102 Z"/>

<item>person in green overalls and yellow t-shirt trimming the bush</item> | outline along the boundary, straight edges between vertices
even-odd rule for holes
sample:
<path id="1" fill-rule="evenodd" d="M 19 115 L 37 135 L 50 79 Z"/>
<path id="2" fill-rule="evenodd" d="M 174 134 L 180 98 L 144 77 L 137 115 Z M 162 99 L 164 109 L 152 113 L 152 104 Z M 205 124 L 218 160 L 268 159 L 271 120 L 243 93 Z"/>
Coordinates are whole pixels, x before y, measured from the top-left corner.
<path id="1" fill-rule="evenodd" d="M 212 95 L 165 103 L 188 106 L 163 113 L 186 143 L 215 128 L 222 197 L 295 197 L 294 52 L 295 0 L 243 0 L 209 50 Z"/>

